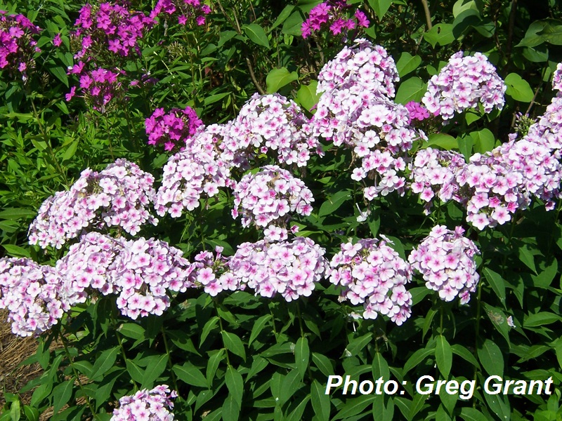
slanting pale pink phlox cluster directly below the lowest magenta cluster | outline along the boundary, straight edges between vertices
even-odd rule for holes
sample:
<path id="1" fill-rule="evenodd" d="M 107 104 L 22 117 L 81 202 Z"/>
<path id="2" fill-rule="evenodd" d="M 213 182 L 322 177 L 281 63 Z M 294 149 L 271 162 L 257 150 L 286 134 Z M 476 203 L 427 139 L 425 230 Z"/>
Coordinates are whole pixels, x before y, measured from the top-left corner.
<path id="1" fill-rule="evenodd" d="M 231 187 L 230 169 L 221 159 L 218 139 L 201 131 L 185 142 L 183 151 L 168 159 L 162 175 L 162 186 L 155 196 L 156 212 L 178 218 L 184 209 L 199 206 L 202 195 L 212 197 L 220 187 Z"/>

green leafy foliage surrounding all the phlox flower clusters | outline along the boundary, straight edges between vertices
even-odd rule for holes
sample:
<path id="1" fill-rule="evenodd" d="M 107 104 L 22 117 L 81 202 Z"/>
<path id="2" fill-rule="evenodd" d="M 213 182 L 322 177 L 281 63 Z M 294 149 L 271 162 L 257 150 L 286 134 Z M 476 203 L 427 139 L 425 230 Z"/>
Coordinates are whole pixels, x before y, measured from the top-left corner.
<path id="1" fill-rule="evenodd" d="M 339 39 L 322 34 L 303 40 L 300 27 L 318 1 L 213 1 L 204 27 L 157 25 L 142 39 L 142 52 L 124 63 L 129 72 L 157 79 L 131 89 L 127 100 L 105 113 L 65 94 L 77 83 L 67 75 L 73 64 L 65 48 L 81 4 L 77 1 L 0 1 L 0 9 L 27 15 L 44 28 L 37 68 L 25 81 L 0 75 L 0 255 L 27 256 L 51 263 L 63 250 L 27 245 L 27 227 L 41 203 L 67 189 L 84 168 L 101 170 L 118 157 L 137 162 L 159 180 L 168 154 L 146 145 L 144 119 L 156 107 L 190 105 L 204 123 L 233 119 L 254 92 L 279 92 L 309 112 L 318 100 L 318 70 L 341 49 Z M 540 116 L 553 93 L 551 75 L 562 61 L 562 11 L 551 1 L 350 1 L 370 18 L 366 36 L 388 49 L 398 63 L 397 102 L 419 100 L 426 81 L 452 53 L 488 55 L 508 84 L 502 112 L 467 112 L 457 125 L 434 128 L 433 146 L 485 152 L 514 132 L 514 114 Z M 132 1 L 150 11 L 153 4 Z M 438 134 L 437 134 L 438 133 Z M 470 142 L 468 141 L 470 140 Z M 443 204 L 424 216 L 414 195 L 388 195 L 358 222 L 363 208 L 358 185 L 346 168 L 350 156 L 326 147 L 302 174 L 313 190 L 313 214 L 299 221 L 333 255 L 348 237 L 385 234 L 403 257 L 436 224 L 464 225 L 464 210 Z M 254 241 L 230 217 L 226 194 L 188 215 L 166 217 L 143 236 L 156 236 L 187 257 L 223 246 Z M 327 281 L 311 298 L 287 304 L 251 293 L 199 290 L 180 294 L 161 317 L 131 321 L 119 316 L 115 299 L 103 297 L 77 307 L 64 323 L 39 338 L 26 363 L 39 363 L 41 377 L 15 394 L 4 395 L 0 420 L 37 420 L 53 407 L 53 420 L 107 420 L 119 397 L 166 383 L 178 390 L 181 420 L 391 419 L 558 420 L 562 375 L 561 296 L 558 260 L 562 248 L 560 206 L 542 203 L 518 214 L 514 223 L 471 230 L 481 249 L 481 283 L 468 306 L 443 303 L 414 280 L 412 317 L 394 326 L 382 317 L 353 319 L 352 307 L 337 302 Z M 507 326 L 513 318 L 515 328 Z M 49 350 L 53 340 L 63 347 Z M 407 381 L 404 396 L 324 394 L 328 375 L 380 375 Z M 477 380 L 544 380 L 551 396 L 488 395 L 473 399 L 416 394 L 421 375 Z M 29 402 L 20 394 L 33 391 Z M 21 418 L 19 418 L 21 417 Z"/>

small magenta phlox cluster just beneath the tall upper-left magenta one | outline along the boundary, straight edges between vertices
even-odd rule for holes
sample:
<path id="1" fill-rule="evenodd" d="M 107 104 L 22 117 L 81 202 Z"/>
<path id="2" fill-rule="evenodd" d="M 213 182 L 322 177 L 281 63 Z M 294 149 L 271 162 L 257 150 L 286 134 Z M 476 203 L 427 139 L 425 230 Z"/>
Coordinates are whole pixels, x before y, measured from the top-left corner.
<path id="1" fill-rule="evenodd" d="M 84 62 L 79 62 L 69 70 L 69 74 L 79 76 L 81 96 L 96 111 L 105 112 L 111 100 L 124 96 L 124 87 L 120 80 L 125 75 L 124 70 L 108 70 L 103 67 L 89 70 L 84 66 Z M 75 95 L 76 86 L 72 86 L 65 99 L 70 101 Z"/>

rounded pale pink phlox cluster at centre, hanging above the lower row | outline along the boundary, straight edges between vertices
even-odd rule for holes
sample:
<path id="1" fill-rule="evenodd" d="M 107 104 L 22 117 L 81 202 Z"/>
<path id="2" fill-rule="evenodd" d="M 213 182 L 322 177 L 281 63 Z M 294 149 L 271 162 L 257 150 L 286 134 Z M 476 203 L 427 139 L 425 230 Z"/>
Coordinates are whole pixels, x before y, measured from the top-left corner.
<path id="1" fill-rule="evenodd" d="M 268 165 L 247 174 L 234 188 L 233 218 L 242 217 L 242 226 L 270 224 L 285 227 L 289 212 L 310 215 L 312 192 L 302 180 L 278 166 Z"/>

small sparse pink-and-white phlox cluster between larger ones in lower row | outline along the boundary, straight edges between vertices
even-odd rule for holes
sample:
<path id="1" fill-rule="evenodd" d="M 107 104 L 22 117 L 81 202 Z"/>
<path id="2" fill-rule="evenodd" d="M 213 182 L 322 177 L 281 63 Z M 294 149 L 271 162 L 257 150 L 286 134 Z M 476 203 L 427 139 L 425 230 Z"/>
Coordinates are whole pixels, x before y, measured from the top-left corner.
<path id="1" fill-rule="evenodd" d="M 222 255 L 223 248 L 216 246 L 215 253 L 202 251 L 197 253 L 192 263 L 193 271 L 189 276 L 189 281 L 195 286 L 202 286 L 203 290 L 216 297 L 223 290 L 243 290 L 245 285 L 240 284 L 240 279 L 236 278 L 228 268 L 228 258 Z"/>

